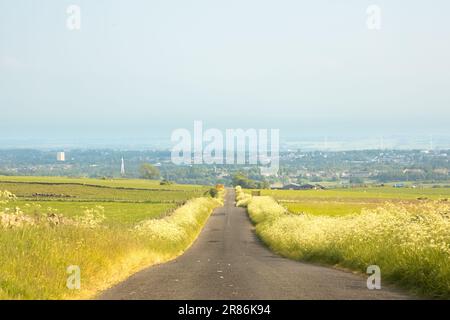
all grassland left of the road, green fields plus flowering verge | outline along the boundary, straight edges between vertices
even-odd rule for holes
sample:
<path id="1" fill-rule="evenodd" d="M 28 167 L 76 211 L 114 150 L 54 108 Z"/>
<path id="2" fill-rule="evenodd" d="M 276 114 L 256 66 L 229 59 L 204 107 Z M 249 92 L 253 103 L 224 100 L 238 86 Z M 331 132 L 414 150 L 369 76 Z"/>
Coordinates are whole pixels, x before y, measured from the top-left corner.
<path id="1" fill-rule="evenodd" d="M 207 190 L 145 180 L 0 177 L 0 299 L 89 298 L 176 257 L 220 205 L 204 196 Z M 71 265 L 81 270 L 76 290 L 66 286 Z"/>

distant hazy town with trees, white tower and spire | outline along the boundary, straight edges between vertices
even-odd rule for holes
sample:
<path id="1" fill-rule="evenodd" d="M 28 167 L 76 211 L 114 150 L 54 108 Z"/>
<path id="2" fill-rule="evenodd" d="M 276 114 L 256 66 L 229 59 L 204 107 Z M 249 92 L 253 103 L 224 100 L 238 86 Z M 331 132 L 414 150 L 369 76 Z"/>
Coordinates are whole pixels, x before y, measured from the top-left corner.
<path id="1" fill-rule="evenodd" d="M 184 184 L 231 185 L 240 178 L 277 189 L 450 184 L 450 150 L 283 151 L 274 176 L 255 165 L 174 165 L 169 151 L 0 150 L 0 175 L 141 178 L 144 164 L 156 168 L 153 178 Z"/>

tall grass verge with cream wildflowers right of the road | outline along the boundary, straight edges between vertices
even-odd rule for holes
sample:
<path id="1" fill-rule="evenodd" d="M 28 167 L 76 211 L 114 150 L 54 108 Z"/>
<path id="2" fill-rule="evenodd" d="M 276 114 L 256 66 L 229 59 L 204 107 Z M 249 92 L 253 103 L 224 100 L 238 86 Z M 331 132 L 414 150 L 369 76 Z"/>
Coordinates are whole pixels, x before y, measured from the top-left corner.
<path id="1" fill-rule="evenodd" d="M 341 217 L 293 215 L 271 197 L 253 197 L 247 208 L 258 236 L 283 256 L 361 272 L 378 265 L 382 279 L 450 298 L 447 202 L 387 203 Z"/>

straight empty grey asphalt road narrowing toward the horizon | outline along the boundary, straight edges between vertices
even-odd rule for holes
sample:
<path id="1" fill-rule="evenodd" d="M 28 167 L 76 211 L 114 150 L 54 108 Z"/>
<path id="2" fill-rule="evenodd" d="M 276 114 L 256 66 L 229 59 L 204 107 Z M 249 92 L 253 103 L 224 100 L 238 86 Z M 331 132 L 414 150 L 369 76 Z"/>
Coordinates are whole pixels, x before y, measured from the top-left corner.
<path id="1" fill-rule="evenodd" d="M 407 299 L 368 290 L 366 277 L 279 257 L 260 243 L 229 189 L 196 242 L 177 259 L 149 267 L 99 299 Z"/>

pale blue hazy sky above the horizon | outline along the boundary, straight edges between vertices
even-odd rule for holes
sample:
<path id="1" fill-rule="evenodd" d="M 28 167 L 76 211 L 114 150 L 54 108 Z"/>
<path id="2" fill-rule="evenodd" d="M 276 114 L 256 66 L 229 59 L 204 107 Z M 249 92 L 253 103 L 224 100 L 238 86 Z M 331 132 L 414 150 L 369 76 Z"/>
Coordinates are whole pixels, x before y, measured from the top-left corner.
<path id="1" fill-rule="evenodd" d="M 0 0 L 0 111 L 2 138 L 169 135 L 193 120 L 450 134 L 450 2 Z"/>

